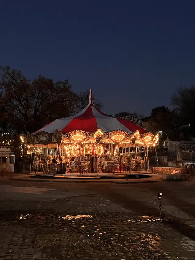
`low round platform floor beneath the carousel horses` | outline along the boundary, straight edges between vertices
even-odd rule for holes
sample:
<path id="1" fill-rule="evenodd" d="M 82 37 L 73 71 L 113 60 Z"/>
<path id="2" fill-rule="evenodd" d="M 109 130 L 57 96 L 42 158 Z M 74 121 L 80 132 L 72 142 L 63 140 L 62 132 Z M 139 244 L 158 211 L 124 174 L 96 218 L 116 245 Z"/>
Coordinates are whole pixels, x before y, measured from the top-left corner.
<path id="1" fill-rule="evenodd" d="M 129 178 L 130 176 L 132 178 L 140 178 L 141 175 L 150 174 L 151 170 L 149 171 L 139 171 L 139 173 L 136 173 L 135 171 L 125 172 L 115 172 L 115 173 L 66 173 L 66 174 L 56 174 L 55 177 L 58 178 Z M 43 172 L 37 172 L 37 173 L 30 173 L 30 175 L 36 175 L 36 176 L 52 176 L 51 174 L 43 174 Z M 143 176 L 144 177 L 144 176 Z"/>

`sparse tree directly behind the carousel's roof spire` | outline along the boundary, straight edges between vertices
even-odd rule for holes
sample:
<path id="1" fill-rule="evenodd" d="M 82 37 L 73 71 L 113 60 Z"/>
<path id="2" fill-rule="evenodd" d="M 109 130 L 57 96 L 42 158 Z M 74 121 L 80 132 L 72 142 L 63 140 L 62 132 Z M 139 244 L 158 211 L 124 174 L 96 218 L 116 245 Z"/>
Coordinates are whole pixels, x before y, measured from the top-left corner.
<path id="1" fill-rule="evenodd" d="M 97 98 L 95 98 L 94 95 L 93 95 L 92 99 L 93 99 L 94 106 L 101 110 L 103 108 L 102 103 L 99 100 L 97 100 Z M 77 112 L 80 112 L 88 104 L 89 104 L 89 89 L 87 89 L 86 91 L 80 92 L 80 94 L 79 94 L 79 102 L 77 104 Z"/>

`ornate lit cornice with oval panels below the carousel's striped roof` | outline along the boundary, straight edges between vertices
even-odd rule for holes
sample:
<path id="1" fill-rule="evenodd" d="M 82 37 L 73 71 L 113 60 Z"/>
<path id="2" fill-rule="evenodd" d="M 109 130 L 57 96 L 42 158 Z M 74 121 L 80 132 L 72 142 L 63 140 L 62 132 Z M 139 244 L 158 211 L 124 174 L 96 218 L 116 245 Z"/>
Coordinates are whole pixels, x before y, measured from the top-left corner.
<path id="1" fill-rule="evenodd" d="M 122 130 L 115 130 L 112 132 L 103 132 L 101 129 L 97 129 L 94 133 L 89 133 L 82 130 L 74 130 L 67 134 L 60 132 L 58 129 L 55 133 L 46 133 L 39 131 L 37 134 L 28 133 L 23 136 L 25 143 L 27 144 L 124 144 L 129 143 L 134 145 L 156 145 L 158 143 L 159 134 L 152 134 L 150 132 L 140 134 L 138 130 L 133 133 L 127 133 Z"/>

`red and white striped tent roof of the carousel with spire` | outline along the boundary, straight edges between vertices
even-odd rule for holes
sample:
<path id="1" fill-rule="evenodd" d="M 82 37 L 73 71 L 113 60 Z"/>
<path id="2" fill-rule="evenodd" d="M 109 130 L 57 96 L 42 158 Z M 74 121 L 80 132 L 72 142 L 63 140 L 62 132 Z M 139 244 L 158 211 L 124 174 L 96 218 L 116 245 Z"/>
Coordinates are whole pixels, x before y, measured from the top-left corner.
<path id="1" fill-rule="evenodd" d="M 101 129 L 102 132 L 112 132 L 114 130 L 123 130 L 127 133 L 139 130 L 140 134 L 146 132 L 144 129 L 128 120 L 107 116 L 99 109 L 95 108 L 92 102 L 92 91 L 90 89 L 89 104 L 86 108 L 74 116 L 56 119 L 54 122 L 49 123 L 33 134 L 37 134 L 39 131 L 55 133 L 56 129 L 62 133 L 69 133 L 73 130 L 83 130 L 93 133 L 98 128 Z"/>

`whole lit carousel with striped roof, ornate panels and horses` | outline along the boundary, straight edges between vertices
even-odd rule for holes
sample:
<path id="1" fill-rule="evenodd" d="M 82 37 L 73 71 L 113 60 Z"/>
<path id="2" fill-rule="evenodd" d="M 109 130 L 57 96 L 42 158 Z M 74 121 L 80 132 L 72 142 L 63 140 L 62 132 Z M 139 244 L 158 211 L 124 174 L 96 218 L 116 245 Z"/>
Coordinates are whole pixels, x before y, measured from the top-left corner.
<path id="1" fill-rule="evenodd" d="M 148 148 L 158 145 L 159 137 L 95 108 L 90 90 L 89 104 L 78 114 L 56 119 L 22 138 L 31 171 L 75 175 L 148 171 Z"/>

